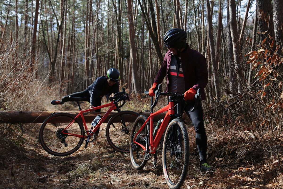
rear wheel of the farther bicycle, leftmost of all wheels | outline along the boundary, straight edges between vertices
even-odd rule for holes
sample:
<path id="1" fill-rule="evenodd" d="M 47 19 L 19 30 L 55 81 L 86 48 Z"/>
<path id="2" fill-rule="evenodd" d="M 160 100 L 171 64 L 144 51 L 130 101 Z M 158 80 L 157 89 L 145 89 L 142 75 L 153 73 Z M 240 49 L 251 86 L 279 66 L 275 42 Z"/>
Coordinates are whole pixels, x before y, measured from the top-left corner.
<path id="1" fill-rule="evenodd" d="M 49 116 L 41 125 L 39 130 L 39 142 L 42 148 L 53 156 L 68 156 L 80 148 L 83 137 L 72 136 L 70 134 L 84 136 L 82 123 L 75 116 L 68 113 L 57 113 Z M 71 122 L 74 123 L 63 131 Z"/>

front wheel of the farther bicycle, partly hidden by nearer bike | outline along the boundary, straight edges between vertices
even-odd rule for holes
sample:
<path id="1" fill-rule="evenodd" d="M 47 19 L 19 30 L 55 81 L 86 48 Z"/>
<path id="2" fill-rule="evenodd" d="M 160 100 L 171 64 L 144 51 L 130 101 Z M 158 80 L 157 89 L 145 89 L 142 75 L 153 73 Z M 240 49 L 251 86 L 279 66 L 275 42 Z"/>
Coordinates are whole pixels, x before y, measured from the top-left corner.
<path id="1" fill-rule="evenodd" d="M 130 135 L 138 116 L 133 111 L 121 111 L 110 118 L 106 126 L 106 139 L 112 148 L 119 152 L 130 151 Z"/>

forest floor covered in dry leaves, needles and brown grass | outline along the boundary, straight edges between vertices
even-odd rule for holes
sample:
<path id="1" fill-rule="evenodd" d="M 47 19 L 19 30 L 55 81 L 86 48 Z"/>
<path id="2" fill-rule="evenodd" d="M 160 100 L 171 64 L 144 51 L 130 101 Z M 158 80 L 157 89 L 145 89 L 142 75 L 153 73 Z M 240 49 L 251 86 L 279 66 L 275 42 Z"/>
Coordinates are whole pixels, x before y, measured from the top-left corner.
<path id="1" fill-rule="evenodd" d="M 189 123 L 186 125 L 190 165 L 182 188 L 283 188 L 280 171 L 283 137 L 273 140 L 268 131 L 228 132 L 225 128 L 207 125 L 208 162 L 215 171 L 202 174 L 195 132 Z M 86 149 L 81 147 L 70 156 L 56 157 L 45 152 L 38 142 L 40 124 L 24 125 L 22 143 L 8 142 L 5 137 L 5 142 L 0 144 L 0 189 L 169 188 L 162 170 L 162 148 L 159 148 L 156 168 L 152 156 L 138 171 L 132 167 L 128 153 L 116 152 L 109 146 L 105 126 L 102 124 L 97 140 Z"/>

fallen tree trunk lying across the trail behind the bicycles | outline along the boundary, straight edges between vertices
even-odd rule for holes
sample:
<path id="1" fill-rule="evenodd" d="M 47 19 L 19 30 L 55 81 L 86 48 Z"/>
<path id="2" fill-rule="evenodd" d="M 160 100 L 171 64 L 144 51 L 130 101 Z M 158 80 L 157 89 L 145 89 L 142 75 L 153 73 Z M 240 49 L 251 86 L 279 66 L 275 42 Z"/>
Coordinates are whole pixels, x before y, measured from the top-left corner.
<path id="1" fill-rule="evenodd" d="M 59 113 L 62 111 L 56 112 L 31 112 L 31 111 L 0 111 L 0 123 L 12 123 L 12 124 L 24 124 L 24 123 L 43 123 L 46 118 L 51 116 L 52 114 Z M 66 112 L 76 116 L 78 112 Z M 104 123 L 107 123 L 109 119 L 116 114 L 117 112 L 110 112 L 110 114 L 104 120 Z M 91 123 L 93 119 L 100 114 L 104 116 L 105 112 L 85 112 L 83 116 L 85 118 L 86 123 Z M 149 112 L 142 112 L 139 114 L 143 114 L 149 116 Z M 160 116 L 156 116 L 154 121 L 158 121 Z M 80 118 L 79 118 L 80 119 Z M 129 117 L 124 118 L 127 122 L 134 122 L 134 119 L 129 120 Z"/>

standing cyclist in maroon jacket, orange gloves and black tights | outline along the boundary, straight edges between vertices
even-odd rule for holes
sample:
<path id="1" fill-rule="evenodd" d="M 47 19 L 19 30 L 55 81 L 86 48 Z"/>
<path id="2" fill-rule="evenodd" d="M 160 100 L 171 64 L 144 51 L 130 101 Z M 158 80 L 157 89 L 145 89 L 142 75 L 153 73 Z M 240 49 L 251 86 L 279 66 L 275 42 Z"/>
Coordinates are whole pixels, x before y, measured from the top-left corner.
<path id="1" fill-rule="evenodd" d="M 200 171 L 209 171 L 213 168 L 206 162 L 207 136 L 203 124 L 203 109 L 198 104 L 196 111 L 190 112 L 194 107 L 194 95 L 201 89 L 201 98 L 205 99 L 204 88 L 208 83 L 208 71 L 205 57 L 198 51 L 193 50 L 186 43 L 187 34 L 184 29 L 174 28 L 164 35 L 164 44 L 168 52 L 156 75 L 149 95 L 154 96 L 156 86 L 167 78 L 165 92 L 177 92 L 184 94 L 185 112 L 192 120 L 196 131 L 196 145 L 200 154 Z M 156 88 L 156 89 L 155 89 Z"/>

